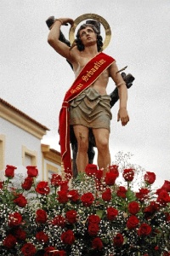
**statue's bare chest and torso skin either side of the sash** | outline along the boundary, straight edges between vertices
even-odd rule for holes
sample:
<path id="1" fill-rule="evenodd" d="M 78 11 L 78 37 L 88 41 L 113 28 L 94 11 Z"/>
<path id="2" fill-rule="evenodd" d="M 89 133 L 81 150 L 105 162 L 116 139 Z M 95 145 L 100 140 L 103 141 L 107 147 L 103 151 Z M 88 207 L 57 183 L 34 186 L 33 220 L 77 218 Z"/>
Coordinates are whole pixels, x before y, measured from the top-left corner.
<path id="1" fill-rule="evenodd" d="M 95 55 L 84 55 L 83 52 L 77 51 L 76 61 L 72 62 L 73 71 L 75 73 L 75 78 L 77 78 L 78 74 L 82 71 L 82 68 L 86 66 L 88 61 L 94 58 Z M 99 78 L 91 84 L 95 90 L 99 92 L 100 95 L 106 95 L 106 87 L 109 80 L 109 70 L 106 69 Z"/>

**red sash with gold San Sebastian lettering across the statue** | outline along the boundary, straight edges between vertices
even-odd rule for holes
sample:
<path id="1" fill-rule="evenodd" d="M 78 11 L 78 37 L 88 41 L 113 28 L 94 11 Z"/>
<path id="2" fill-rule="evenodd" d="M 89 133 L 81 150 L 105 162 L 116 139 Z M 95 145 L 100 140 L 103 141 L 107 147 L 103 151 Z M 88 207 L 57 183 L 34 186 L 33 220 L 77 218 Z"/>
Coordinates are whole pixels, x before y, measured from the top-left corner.
<path id="1" fill-rule="evenodd" d="M 102 52 L 96 55 L 85 67 L 83 67 L 81 73 L 65 94 L 62 108 L 59 113 L 59 143 L 61 160 L 63 161 L 66 173 L 71 172 L 69 102 L 93 84 L 94 81 L 99 78 L 99 75 L 104 72 L 107 67 L 111 66 L 114 61 L 115 60 L 111 56 L 105 55 Z"/>

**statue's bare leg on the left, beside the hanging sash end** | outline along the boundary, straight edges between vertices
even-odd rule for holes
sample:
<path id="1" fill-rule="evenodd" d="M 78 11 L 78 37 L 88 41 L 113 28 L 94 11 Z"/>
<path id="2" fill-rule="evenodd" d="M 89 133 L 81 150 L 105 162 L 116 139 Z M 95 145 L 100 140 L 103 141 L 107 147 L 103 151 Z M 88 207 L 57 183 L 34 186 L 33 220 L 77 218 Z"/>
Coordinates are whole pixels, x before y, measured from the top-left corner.
<path id="1" fill-rule="evenodd" d="M 77 172 L 84 172 L 88 165 L 88 127 L 82 125 L 73 126 L 77 138 Z"/>

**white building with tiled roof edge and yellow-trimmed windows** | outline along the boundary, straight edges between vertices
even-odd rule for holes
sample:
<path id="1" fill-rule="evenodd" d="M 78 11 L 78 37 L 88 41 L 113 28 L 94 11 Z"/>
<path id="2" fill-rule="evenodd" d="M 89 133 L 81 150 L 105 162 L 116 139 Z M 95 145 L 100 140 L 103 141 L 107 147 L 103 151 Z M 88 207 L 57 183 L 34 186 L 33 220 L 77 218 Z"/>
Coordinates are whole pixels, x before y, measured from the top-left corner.
<path id="1" fill-rule="evenodd" d="M 41 180 L 48 180 L 51 172 L 60 172 L 60 153 L 41 144 L 46 131 L 46 126 L 0 98 L 1 180 L 7 165 L 16 166 L 16 172 L 22 173 L 26 173 L 26 166 L 37 166 Z"/>

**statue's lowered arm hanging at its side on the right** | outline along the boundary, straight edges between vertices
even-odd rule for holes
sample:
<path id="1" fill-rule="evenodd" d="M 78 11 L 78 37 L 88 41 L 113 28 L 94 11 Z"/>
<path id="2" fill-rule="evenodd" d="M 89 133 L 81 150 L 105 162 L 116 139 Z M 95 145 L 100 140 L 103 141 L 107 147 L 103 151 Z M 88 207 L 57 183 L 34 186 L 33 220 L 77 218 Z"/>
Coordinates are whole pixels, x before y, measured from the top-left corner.
<path id="1" fill-rule="evenodd" d="M 119 112 L 117 114 L 117 121 L 121 119 L 122 125 L 127 125 L 129 121 L 127 113 L 127 86 L 125 81 L 122 79 L 122 75 L 118 72 L 116 62 L 113 62 L 110 67 L 110 76 L 114 80 L 119 95 Z"/>

